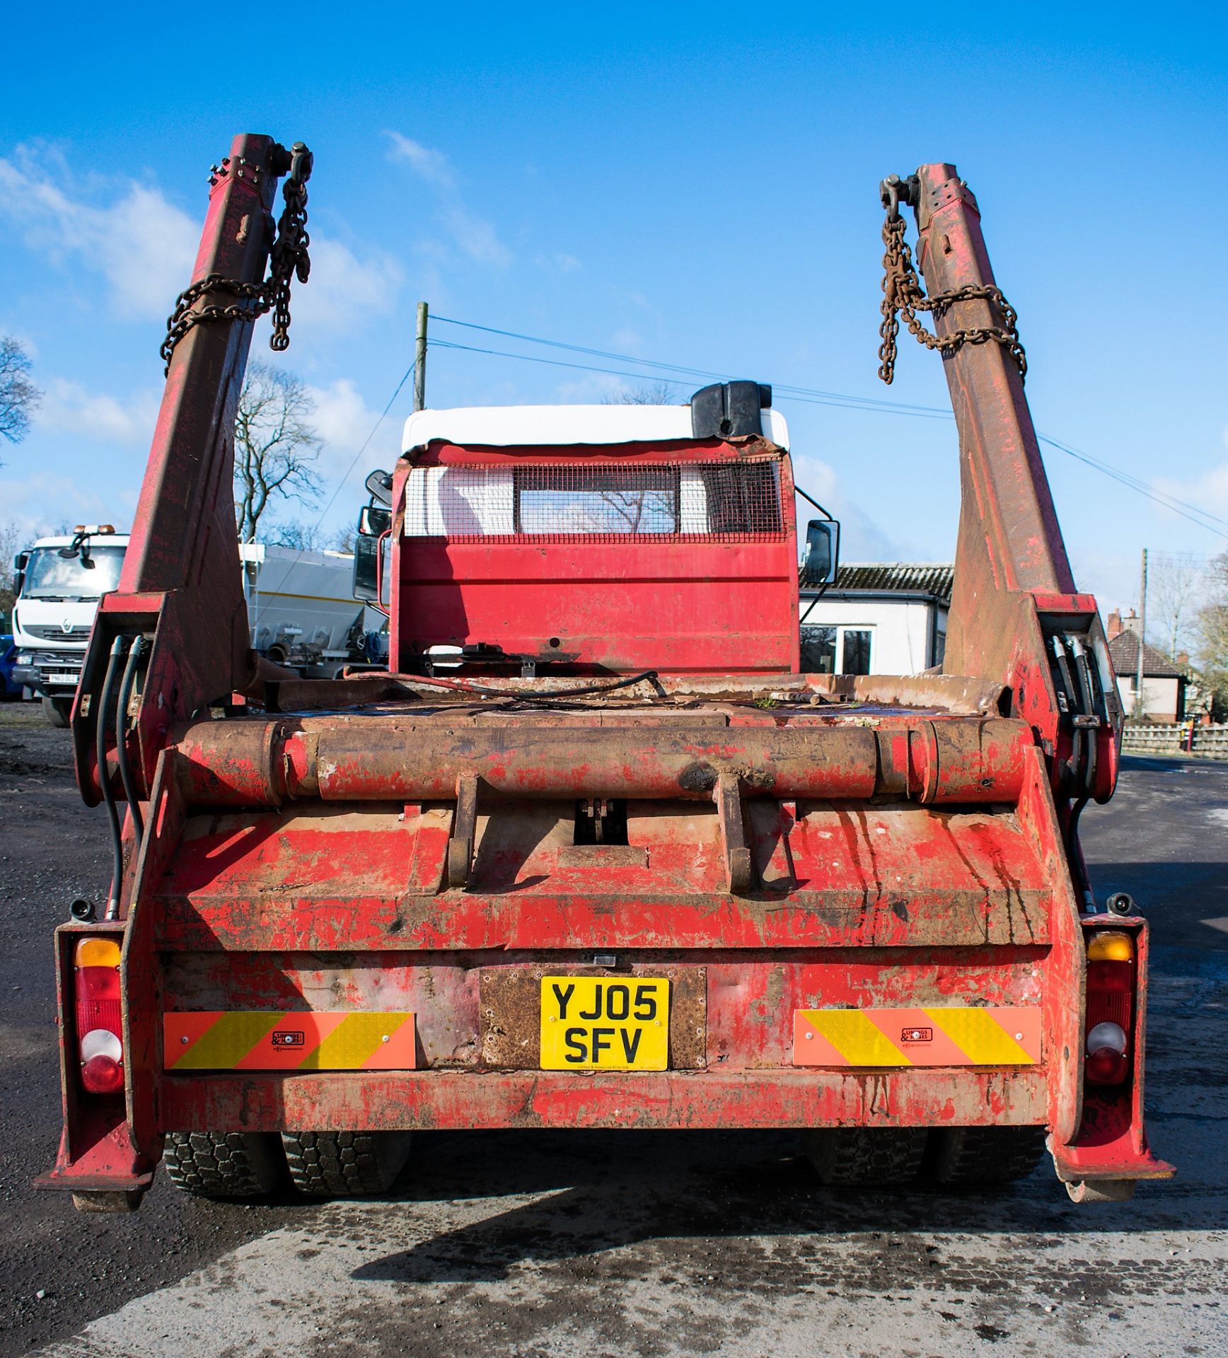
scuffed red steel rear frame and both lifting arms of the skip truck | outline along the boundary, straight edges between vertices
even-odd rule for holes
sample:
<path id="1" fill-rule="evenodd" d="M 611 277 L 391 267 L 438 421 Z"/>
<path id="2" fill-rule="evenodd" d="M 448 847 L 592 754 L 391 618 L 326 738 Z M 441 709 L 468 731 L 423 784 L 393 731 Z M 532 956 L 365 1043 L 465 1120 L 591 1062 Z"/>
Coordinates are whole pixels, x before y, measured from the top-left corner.
<path id="1" fill-rule="evenodd" d="M 194 278 L 262 278 L 285 164 L 268 137 L 235 140 L 212 186 Z M 931 292 L 992 281 L 975 202 L 952 166 L 921 168 L 914 206 Z M 993 320 L 988 303 L 970 301 L 937 326 Z M 1096 800 L 1113 792 L 1119 713 L 1095 600 L 1073 587 L 1019 375 L 997 346 L 944 363 L 963 492 L 947 675 L 662 676 L 651 694 L 542 708 L 515 695 L 527 686 L 541 697 L 549 679 L 488 680 L 509 699 L 475 705 L 441 702 L 410 675 L 308 684 L 261 672 L 234 568 L 231 492 L 250 340 L 251 322 L 227 320 L 190 330 L 175 350 L 124 576 L 91 637 L 72 718 L 90 804 L 103 778 L 122 799 L 114 737 L 105 769 L 94 756 L 111 644 L 145 638 L 122 736 L 145 830 L 137 851 L 125 819 L 117 918 L 57 930 L 64 1137 L 42 1186 L 134 1200 L 166 1131 L 283 1127 L 1043 1123 L 1069 1183 L 1172 1172 L 1151 1154 L 1142 1123 L 1141 918 L 1111 921 L 1134 936 L 1140 957 L 1130 1080 L 1084 1088 L 1081 934 L 1108 921 L 1087 907 L 1077 839 L 1066 834 L 1074 799 L 1062 770 L 1073 733 L 1054 687 L 1053 636 L 1084 638 L 1107 680 L 1107 720 L 1092 736 Z M 391 626 L 397 655 L 395 618 Z M 257 698 L 266 714 L 194 716 L 231 693 Z M 319 708 L 333 710 L 310 710 Z M 645 812 L 655 805 L 678 826 L 690 824 L 689 807 L 702 807 L 716 827 L 712 853 L 682 843 L 694 858 L 672 884 L 653 884 L 634 856 L 611 846 L 591 860 L 598 875 L 568 879 L 560 854 L 558 889 L 526 891 L 515 880 L 484 887 L 482 823 L 489 830 L 518 808 L 602 797 Z M 979 845 L 979 866 L 948 832 L 950 862 L 964 862 L 955 875 L 973 889 L 887 885 L 924 877 L 917 845 L 888 830 L 902 809 L 924 818 L 917 824 L 933 830 L 935 842 L 945 818 L 975 823 L 969 842 Z M 357 812 L 357 828 L 342 816 L 327 839 L 326 818 L 338 811 Z M 834 864 L 826 880 L 803 880 L 799 870 L 811 851 L 811 818 L 852 827 L 849 862 Z M 278 876 L 268 857 L 274 850 L 245 850 L 257 824 L 265 828 L 255 838 L 285 847 L 300 870 Z M 364 838 L 367 824 L 375 832 Z M 205 846 L 196 860 L 190 826 Z M 884 837 L 878 860 L 871 831 Z M 346 841 L 350 832 L 357 838 Z M 412 861 L 399 857 L 406 849 Z M 670 851 L 666 834 L 663 862 Z M 168 884 L 177 872 L 190 877 L 201 854 L 213 856 L 204 877 Z M 945 870 L 945 860 L 933 861 Z M 219 887 L 221 862 L 230 877 Z M 330 894 L 333 877 L 348 894 Z M 77 1077 L 72 948 L 82 933 L 122 941 L 122 1096 L 90 1096 Z M 690 1036 L 671 1029 L 675 1069 L 523 1069 L 497 1031 L 480 1031 L 481 998 L 497 991 L 500 974 L 609 970 L 610 959 L 595 961 L 598 951 L 615 955 L 614 968 L 706 978 L 675 986 L 696 1020 Z M 437 978 L 473 1031 L 444 1050 L 424 1012 L 420 1069 L 405 1073 L 174 1076 L 163 1070 L 160 1016 L 183 986 L 174 979 L 181 961 L 202 967 L 235 1008 L 311 1008 L 306 997 L 321 986 L 361 1002 L 353 978 L 387 975 L 394 963 L 401 982 L 390 993 L 413 1001 L 403 1008 L 429 1010 Z M 782 1035 L 795 1008 L 950 995 L 1041 1002 L 1042 1065 L 791 1065 Z"/>

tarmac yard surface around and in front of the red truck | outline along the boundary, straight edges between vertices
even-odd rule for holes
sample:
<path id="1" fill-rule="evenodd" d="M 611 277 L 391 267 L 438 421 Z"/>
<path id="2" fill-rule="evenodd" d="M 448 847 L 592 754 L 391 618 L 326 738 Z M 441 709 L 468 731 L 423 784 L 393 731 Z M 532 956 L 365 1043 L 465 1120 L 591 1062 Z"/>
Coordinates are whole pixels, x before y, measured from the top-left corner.
<path id="1" fill-rule="evenodd" d="M 1180 1176 L 1077 1207 L 833 1192 L 789 1134 L 424 1134 L 390 1202 L 90 1217 L 58 1134 L 50 932 L 107 872 L 68 733 L 0 705 L 0 1358 L 1228 1353 L 1228 766 L 1127 759 L 1098 888 L 1153 921 L 1148 1103 Z M 39 1346 L 48 1346 L 42 1347 Z"/>

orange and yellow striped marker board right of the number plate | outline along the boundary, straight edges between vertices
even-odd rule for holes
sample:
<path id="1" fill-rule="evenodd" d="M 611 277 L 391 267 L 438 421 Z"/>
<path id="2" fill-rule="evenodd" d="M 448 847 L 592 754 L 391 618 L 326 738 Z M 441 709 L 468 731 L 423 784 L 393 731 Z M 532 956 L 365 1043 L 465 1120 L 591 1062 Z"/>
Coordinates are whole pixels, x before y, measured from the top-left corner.
<path id="1" fill-rule="evenodd" d="M 795 1009 L 795 1066 L 1034 1066 L 1039 1005 Z"/>

